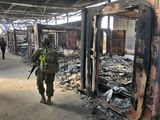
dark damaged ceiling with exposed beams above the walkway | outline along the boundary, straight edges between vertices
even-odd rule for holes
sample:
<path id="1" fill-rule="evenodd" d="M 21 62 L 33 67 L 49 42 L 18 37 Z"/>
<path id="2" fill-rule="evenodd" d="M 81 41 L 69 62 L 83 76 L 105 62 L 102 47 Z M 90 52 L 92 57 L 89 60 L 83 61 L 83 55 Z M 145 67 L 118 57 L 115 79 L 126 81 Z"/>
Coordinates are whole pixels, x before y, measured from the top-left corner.
<path id="1" fill-rule="evenodd" d="M 51 19 L 105 0 L 1 0 L 0 15 L 5 19 Z"/>

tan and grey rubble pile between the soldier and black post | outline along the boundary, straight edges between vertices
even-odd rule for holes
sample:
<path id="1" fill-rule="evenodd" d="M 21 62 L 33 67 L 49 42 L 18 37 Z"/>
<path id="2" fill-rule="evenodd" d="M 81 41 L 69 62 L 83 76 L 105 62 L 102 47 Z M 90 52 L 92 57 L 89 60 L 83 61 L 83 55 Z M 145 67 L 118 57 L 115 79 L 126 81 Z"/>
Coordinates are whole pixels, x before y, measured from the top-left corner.
<path id="1" fill-rule="evenodd" d="M 80 57 L 61 57 L 59 61 L 58 83 L 65 90 L 77 90 L 80 87 Z"/>

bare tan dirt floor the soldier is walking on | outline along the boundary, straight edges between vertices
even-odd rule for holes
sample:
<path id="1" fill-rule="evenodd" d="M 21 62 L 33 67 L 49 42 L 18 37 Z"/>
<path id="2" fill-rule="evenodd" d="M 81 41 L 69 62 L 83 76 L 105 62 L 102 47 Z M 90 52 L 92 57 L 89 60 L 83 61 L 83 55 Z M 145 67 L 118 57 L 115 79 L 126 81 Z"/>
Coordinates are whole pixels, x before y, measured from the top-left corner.
<path id="1" fill-rule="evenodd" d="M 0 120 L 90 120 L 85 103 L 72 92 L 55 86 L 54 105 L 40 104 L 34 74 L 29 80 L 30 66 L 21 57 L 0 53 Z"/>

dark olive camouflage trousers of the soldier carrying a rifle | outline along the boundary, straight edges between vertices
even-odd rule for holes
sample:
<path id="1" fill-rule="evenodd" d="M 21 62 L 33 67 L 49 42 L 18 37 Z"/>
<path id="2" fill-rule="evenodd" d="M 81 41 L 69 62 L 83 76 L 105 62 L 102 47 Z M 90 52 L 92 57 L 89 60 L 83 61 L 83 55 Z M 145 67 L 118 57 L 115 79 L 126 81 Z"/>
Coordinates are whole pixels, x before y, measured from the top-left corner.
<path id="1" fill-rule="evenodd" d="M 54 77 L 55 74 L 47 74 L 45 72 L 41 72 L 41 70 L 38 68 L 36 70 L 36 76 L 37 76 L 37 87 L 38 91 L 41 95 L 44 95 L 45 88 L 44 88 L 44 82 L 46 84 L 46 95 L 48 97 L 53 96 L 54 93 Z"/>

